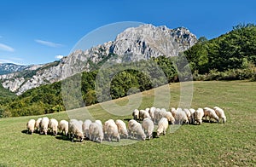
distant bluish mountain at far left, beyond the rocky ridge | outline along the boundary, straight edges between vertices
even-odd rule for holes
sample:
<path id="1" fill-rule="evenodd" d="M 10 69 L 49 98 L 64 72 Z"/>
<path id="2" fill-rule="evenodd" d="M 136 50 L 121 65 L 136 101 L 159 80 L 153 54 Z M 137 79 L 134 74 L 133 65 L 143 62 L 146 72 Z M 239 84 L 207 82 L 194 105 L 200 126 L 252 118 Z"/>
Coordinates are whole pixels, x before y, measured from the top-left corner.
<path id="1" fill-rule="evenodd" d="M 30 66 L 15 65 L 13 63 L 2 63 L 0 64 L 0 75 L 13 72 L 20 72 L 28 67 Z"/>

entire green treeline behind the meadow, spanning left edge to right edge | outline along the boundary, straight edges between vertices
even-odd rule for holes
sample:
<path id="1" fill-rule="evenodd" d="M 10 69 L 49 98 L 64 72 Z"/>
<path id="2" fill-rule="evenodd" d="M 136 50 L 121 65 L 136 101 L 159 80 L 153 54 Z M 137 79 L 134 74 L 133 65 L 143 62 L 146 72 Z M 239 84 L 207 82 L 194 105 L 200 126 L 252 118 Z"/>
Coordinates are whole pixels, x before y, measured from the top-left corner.
<path id="1" fill-rule="evenodd" d="M 256 26 L 238 25 L 212 40 L 200 37 L 184 55 L 121 65 L 104 61 L 103 69 L 97 65 L 94 71 L 76 74 L 62 82 L 30 89 L 20 96 L 0 98 L 0 117 L 89 106 L 192 77 L 194 80 L 256 80 Z M 190 69 L 193 76 L 189 75 Z"/>

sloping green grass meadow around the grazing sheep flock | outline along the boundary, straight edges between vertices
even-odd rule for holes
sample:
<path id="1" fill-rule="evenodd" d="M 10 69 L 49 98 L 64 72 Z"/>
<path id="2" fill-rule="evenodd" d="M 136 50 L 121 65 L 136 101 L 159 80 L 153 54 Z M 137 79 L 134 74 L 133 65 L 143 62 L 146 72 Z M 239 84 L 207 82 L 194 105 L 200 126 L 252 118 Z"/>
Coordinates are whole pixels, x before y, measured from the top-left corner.
<path id="1" fill-rule="evenodd" d="M 180 84 L 173 83 L 170 88 L 171 107 L 177 107 Z M 153 96 L 154 90 L 143 92 L 140 108 L 150 107 Z M 59 135 L 26 135 L 26 122 L 38 117 L 1 118 L 0 166 L 255 166 L 255 101 L 256 82 L 194 82 L 192 107 L 222 107 L 226 124 L 183 125 L 175 133 L 119 147 L 71 142 Z M 116 100 L 120 106 L 128 102 L 127 98 Z M 99 104 L 48 117 L 68 119 L 85 110 L 102 121 L 131 118 L 103 112 Z"/>

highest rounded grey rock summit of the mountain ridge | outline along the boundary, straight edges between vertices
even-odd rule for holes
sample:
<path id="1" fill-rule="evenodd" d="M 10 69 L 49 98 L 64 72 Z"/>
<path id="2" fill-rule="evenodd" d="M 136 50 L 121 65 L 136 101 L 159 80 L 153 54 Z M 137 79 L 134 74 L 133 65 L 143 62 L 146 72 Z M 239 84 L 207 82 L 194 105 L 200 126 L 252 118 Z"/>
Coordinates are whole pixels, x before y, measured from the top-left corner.
<path id="1" fill-rule="evenodd" d="M 196 42 L 195 35 L 183 27 L 169 29 L 166 26 L 141 25 L 121 32 L 112 48 L 116 55 L 131 55 L 130 60 L 140 60 L 145 56 L 146 59 L 160 55 L 176 56 Z"/>

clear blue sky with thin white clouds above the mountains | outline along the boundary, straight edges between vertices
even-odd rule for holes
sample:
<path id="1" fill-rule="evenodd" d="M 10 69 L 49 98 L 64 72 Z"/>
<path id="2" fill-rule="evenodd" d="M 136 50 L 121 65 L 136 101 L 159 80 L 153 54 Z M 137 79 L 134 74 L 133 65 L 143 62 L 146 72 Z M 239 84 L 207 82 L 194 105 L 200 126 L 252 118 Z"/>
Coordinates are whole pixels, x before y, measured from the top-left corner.
<path id="1" fill-rule="evenodd" d="M 253 0 L 8 0 L 0 5 L 0 63 L 41 64 L 68 55 L 84 35 L 120 21 L 184 26 L 208 39 L 256 19 Z M 115 35 L 115 34 L 114 34 Z"/>

